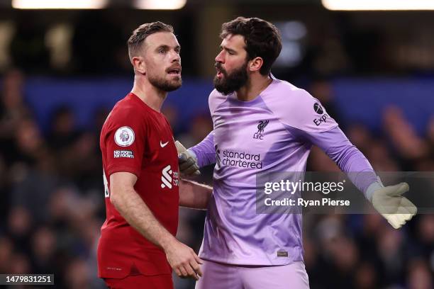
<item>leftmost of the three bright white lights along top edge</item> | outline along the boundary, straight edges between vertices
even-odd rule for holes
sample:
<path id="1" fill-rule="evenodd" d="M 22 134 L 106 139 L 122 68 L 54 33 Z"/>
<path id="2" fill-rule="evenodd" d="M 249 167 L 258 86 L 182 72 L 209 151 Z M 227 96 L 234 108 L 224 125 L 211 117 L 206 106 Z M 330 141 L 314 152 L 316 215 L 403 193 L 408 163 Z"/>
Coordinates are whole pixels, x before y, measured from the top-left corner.
<path id="1" fill-rule="evenodd" d="M 16 9 L 100 9 L 107 0 L 12 0 Z"/>

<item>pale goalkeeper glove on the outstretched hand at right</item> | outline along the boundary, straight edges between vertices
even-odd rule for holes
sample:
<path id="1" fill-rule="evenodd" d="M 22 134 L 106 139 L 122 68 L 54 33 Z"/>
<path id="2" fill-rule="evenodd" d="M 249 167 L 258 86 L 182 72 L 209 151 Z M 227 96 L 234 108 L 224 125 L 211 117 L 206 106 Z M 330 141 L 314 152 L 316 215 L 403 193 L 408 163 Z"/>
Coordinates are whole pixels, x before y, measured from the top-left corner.
<path id="1" fill-rule="evenodd" d="M 375 210 L 395 229 L 399 229 L 418 211 L 416 205 L 402 196 L 408 188 L 408 183 L 399 183 L 395 186 L 379 186 L 372 193 L 371 203 Z"/>

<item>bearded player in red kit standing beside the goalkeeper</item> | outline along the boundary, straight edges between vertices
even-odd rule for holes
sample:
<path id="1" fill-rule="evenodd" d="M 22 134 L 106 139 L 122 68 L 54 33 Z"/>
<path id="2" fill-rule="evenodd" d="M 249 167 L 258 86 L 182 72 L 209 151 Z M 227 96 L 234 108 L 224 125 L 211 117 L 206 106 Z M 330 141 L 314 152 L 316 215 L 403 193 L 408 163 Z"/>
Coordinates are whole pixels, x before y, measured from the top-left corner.
<path id="1" fill-rule="evenodd" d="M 172 269 L 182 277 L 201 276 L 199 257 L 174 237 L 177 149 L 160 113 L 167 93 L 182 84 L 179 51 L 172 26 L 146 23 L 133 31 L 128 54 L 134 86 L 101 130 L 106 221 L 98 244 L 98 275 L 109 288 L 173 288 Z"/>

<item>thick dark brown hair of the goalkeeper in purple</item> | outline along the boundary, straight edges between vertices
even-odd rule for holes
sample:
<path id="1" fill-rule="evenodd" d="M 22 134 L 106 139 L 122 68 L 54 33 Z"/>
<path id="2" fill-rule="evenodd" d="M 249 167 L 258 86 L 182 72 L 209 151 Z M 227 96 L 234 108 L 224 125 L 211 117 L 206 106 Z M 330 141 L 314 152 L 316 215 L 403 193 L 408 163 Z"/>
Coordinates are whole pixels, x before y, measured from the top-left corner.
<path id="1" fill-rule="evenodd" d="M 220 37 L 223 39 L 229 34 L 244 36 L 248 60 L 261 57 L 264 63 L 260 74 L 269 74 L 282 50 L 282 39 L 276 26 L 260 18 L 238 17 L 221 26 Z"/>

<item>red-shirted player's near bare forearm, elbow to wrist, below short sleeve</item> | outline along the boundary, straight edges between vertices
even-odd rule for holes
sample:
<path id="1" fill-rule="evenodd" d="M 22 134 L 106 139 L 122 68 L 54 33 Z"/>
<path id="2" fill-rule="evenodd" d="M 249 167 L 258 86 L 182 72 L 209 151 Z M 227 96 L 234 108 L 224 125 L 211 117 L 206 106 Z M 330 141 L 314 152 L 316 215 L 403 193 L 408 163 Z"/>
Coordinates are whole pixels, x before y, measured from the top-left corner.
<path id="1" fill-rule="evenodd" d="M 166 249 L 174 240 L 174 236 L 158 222 L 133 188 L 123 188 L 123 191 L 112 194 L 111 203 L 131 227 L 153 244 Z"/>

